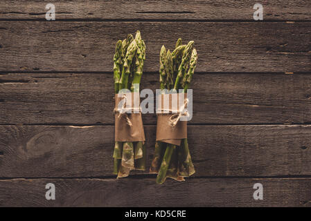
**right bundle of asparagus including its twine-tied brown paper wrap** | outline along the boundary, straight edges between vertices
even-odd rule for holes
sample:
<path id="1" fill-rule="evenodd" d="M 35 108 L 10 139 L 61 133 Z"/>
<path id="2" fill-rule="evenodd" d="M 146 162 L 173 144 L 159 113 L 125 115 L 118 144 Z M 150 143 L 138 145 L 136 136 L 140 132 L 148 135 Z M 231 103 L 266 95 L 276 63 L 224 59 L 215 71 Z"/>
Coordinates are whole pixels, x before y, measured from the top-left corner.
<path id="1" fill-rule="evenodd" d="M 187 139 L 187 122 L 181 117 L 187 115 L 187 90 L 197 64 L 197 50 L 193 41 L 187 45 L 178 39 L 175 50 L 170 53 L 162 46 L 160 52 L 160 88 L 163 93 L 161 111 L 157 115 L 157 142 L 150 173 L 157 173 L 157 183 L 163 184 L 166 177 L 183 181 L 195 173 L 190 157 Z M 181 90 L 181 93 L 179 92 Z M 177 94 L 168 94 L 168 90 Z M 174 96 L 177 96 L 175 98 Z M 168 108 L 163 107 L 163 100 L 168 101 Z M 180 101 L 183 102 L 180 102 Z M 173 104 L 177 101 L 177 104 Z"/>

